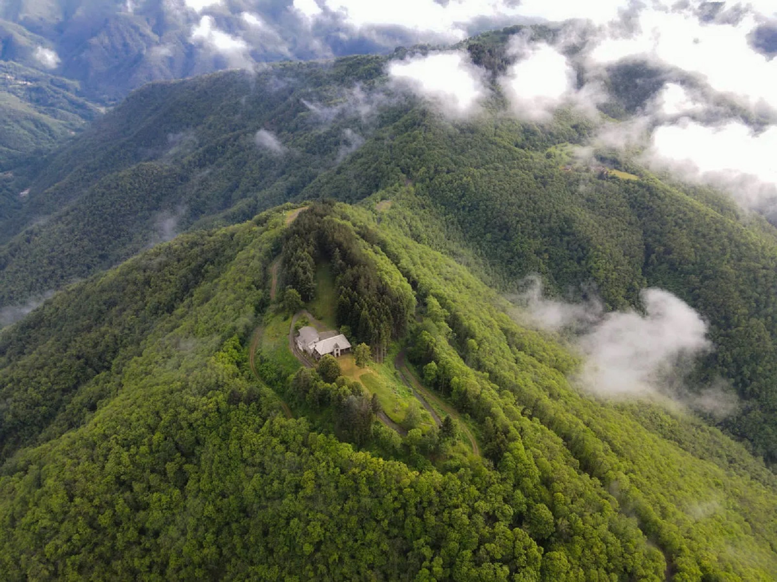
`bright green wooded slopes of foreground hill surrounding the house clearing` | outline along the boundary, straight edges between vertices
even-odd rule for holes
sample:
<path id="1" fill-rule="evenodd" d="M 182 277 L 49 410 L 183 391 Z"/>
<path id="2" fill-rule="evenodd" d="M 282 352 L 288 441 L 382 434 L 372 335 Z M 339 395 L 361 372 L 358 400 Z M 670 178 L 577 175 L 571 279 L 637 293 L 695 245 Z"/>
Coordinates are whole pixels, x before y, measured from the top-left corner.
<path id="1" fill-rule="evenodd" d="M 402 200 L 388 210 L 375 199 L 315 205 L 288 226 L 280 209 L 186 234 L 3 331 L 2 426 L 12 427 L 0 468 L 3 570 L 773 577 L 772 473 L 685 414 L 581 396 L 566 379 L 572 355 L 510 320 L 497 293 L 461 265 L 407 237 L 419 213 L 412 197 Z M 354 438 L 336 422 L 334 394 L 347 382 L 319 384 L 332 400 L 311 404 L 300 374 L 290 383 L 277 373 L 300 364 L 289 368 L 272 351 L 260 354 L 267 383 L 251 376 L 254 326 L 289 324 L 270 304 L 270 264 L 291 256 L 300 233 L 315 234 L 302 255 L 342 262 L 343 289 L 360 272 L 360 285 L 390 283 L 412 294 L 406 306 L 423 306 L 392 314 L 409 326 L 397 337 L 416 364 L 436 362 L 429 387 L 469 414 L 485 460 L 437 448 L 434 431 L 402 441 L 377 423 L 357 451 L 333 436 Z M 353 333 L 370 341 L 367 328 Z M 308 420 L 284 419 L 279 397 Z"/>

